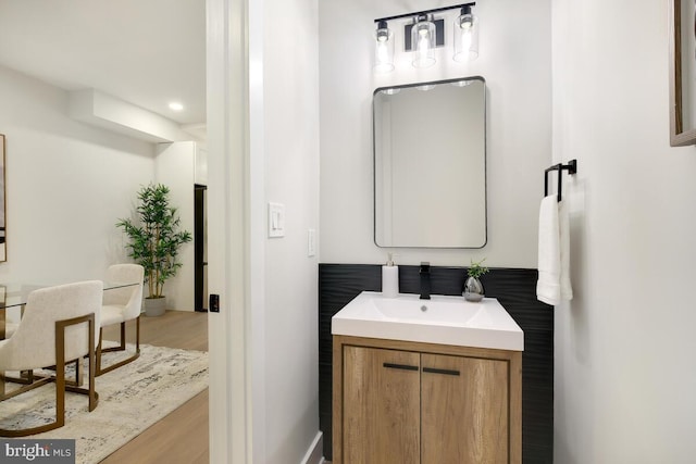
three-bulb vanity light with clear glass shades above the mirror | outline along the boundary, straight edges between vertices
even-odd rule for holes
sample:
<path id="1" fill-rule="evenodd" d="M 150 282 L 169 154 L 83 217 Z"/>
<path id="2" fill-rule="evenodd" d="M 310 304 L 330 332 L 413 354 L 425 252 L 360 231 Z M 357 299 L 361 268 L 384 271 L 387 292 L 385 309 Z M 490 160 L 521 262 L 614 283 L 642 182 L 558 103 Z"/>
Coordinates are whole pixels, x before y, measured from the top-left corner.
<path id="1" fill-rule="evenodd" d="M 475 4 L 475 2 L 460 3 L 374 20 L 377 24 L 374 34 L 374 71 L 388 73 L 394 70 L 395 36 L 388 27 L 388 22 L 395 20 L 411 20 L 403 27 L 403 50 L 413 53 L 411 64 L 419 68 L 434 65 L 435 48 L 445 45 L 445 20 L 435 17 L 435 13 L 455 9 L 459 9 L 461 14 L 455 20 L 453 60 L 458 62 L 475 60 L 478 57 L 478 18 L 471 13 L 471 8 Z"/>

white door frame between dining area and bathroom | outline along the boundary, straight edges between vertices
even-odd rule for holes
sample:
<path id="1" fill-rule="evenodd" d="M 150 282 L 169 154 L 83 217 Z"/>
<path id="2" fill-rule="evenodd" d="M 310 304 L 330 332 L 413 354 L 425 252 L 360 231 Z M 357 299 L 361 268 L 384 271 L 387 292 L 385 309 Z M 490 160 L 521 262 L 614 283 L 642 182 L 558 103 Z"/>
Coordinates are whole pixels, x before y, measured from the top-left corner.
<path id="1" fill-rule="evenodd" d="M 206 15 L 210 462 L 265 462 L 263 0 Z"/>

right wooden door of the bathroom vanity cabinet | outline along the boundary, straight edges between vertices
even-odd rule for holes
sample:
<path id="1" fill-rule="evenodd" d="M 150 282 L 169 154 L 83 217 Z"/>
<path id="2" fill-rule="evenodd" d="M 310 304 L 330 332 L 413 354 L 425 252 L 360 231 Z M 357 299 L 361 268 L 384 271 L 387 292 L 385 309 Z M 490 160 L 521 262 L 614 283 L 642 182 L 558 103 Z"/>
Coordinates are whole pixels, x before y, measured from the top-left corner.
<path id="1" fill-rule="evenodd" d="M 423 354 L 422 463 L 508 463 L 508 363 Z"/>

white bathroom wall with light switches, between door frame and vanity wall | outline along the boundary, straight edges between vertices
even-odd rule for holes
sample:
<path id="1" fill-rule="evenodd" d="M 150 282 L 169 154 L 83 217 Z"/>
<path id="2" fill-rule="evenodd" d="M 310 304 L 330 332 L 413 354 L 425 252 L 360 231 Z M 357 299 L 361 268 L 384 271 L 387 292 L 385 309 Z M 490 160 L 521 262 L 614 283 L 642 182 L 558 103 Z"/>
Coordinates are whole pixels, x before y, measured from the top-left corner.
<path id="1" fill-rule="evenodd" d="M 283 203 L 286 221 L 264 246 L 265 450 L 254 462 L 299 463 L 319 430 L 318 256 L 307 252 L 319 229 L 316 0 L 265 0 L 263 27 L 265 201 L 253 208 Z"/>

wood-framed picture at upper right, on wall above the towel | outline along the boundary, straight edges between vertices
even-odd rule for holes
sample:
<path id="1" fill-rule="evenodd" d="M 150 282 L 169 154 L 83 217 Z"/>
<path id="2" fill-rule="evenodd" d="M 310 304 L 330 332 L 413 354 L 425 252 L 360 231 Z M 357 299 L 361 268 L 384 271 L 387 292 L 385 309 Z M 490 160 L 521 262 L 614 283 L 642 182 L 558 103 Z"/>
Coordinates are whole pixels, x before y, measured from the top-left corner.
<path id="1" fill-rule="evenodd" d="M 696 0 L 669 0 L 670 146 L 696 145 Z"/>

